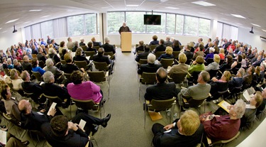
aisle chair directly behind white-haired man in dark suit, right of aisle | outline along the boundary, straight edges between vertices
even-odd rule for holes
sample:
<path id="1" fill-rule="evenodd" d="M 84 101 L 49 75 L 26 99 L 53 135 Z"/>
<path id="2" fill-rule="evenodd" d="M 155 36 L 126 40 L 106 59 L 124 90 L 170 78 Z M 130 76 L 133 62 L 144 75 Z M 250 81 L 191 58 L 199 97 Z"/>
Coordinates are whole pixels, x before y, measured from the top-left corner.
<path id="1" fill-rule="evenodd" d="M 140 99 L 140 85 L 155 85 L 156 82 L 156 72 L 143 72 L 138 85 L 138 98 Z"/>

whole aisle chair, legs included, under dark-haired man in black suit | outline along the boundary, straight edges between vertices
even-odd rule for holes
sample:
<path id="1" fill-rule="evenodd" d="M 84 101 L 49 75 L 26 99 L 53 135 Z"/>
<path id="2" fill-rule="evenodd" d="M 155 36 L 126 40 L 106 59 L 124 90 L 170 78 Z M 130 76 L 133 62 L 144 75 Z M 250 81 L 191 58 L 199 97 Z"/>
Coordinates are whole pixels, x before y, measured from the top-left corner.
<path id="1" fill-rule="evenodd" d="M 153 115 L 153 112 L 160 112 L 160 111 L 165 111 L 166 116 L 167 116 L 167 113 L 170 113 L 170 121 L 171 121 L 171 118 L 172 118 L 171 108 L 173 105 L 175 105 L 175 99 L 176 98 L 173 97 L 172 99 L 165 99 L 165 100 L 152 99 L 151 101 L 145 101 L 144 128 L 146 126 L 146 111 L 147 110 L 150 115 Z"/>

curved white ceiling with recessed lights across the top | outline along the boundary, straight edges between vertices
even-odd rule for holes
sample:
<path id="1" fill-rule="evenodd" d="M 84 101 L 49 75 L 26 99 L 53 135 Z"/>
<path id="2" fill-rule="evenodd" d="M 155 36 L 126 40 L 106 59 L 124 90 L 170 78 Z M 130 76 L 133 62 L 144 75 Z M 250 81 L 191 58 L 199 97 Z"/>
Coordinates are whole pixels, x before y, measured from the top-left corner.
<path id="1" fill-rule="evenodd" d="M 211 18 L 217 21 L 251 28 L 255 33 L 266 35 L 266 1 L 265 0 L 205 0 L 216 6 L 199 6 L 191 2 L 197 0 L 1 0 L 0 1 L 0 33 L 12 31 L 16 28 L 29 26 L 34 23 L 47 21 L 53 18 L 72 16 L 81 13 L 104 13 L 106 11 L 160 11 L 168 13 L 180 13 L 189 16 Z M 128 4 L 139 5 L 126 7 Z M 167 9 L 175 7 L 178 9 Z M 42 11 L 30 12 L 32 9 Z M 245 18 L 235 18 L 232 14 L 239 14 Z M 42 16 L 48 16 L 42 18 Z M 13 23 L 6 23 L 17 19 Z M 29 22 L 28 22 L 29 21 Z"/>

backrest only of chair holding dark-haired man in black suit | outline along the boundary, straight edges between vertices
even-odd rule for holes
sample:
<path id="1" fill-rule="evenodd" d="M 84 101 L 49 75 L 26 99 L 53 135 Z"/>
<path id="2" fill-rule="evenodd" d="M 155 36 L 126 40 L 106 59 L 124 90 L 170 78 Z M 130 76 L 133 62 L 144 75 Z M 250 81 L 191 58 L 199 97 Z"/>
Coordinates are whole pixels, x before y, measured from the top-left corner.
<path id="1" fill-rule="evenodd" d="M 172 99 L 165 99 L 165 100 L 156 100 L 156 99 L 152 99 L 152 101 L 150 102 L 151 106 L 149 106 L 149 110 L 154 110 L 154 111 L 165 111 L 167 109 L 172 108 L 172 104 L 175 101 L 175 97 L 173 97 Z"/>

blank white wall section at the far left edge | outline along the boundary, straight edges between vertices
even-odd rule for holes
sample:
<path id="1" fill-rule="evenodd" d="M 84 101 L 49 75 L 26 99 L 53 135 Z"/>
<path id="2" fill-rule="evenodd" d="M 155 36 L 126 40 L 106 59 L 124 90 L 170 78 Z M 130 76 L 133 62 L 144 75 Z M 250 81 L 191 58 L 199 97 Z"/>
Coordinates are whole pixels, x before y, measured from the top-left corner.
<path id="1" fill-rule="evenodd" d="M 0 33 L 0 45 L 1 50 L 4 50 L 6 52 L 7 48 L 10 48 L 11 45 L 18 44 L 18 42 L 22 42 L 22 33 L 21 28 L 17 29 L 18 31 L 16 33 L 12 33 L 12 30 L 7 31 L 5 33 Z"/>

